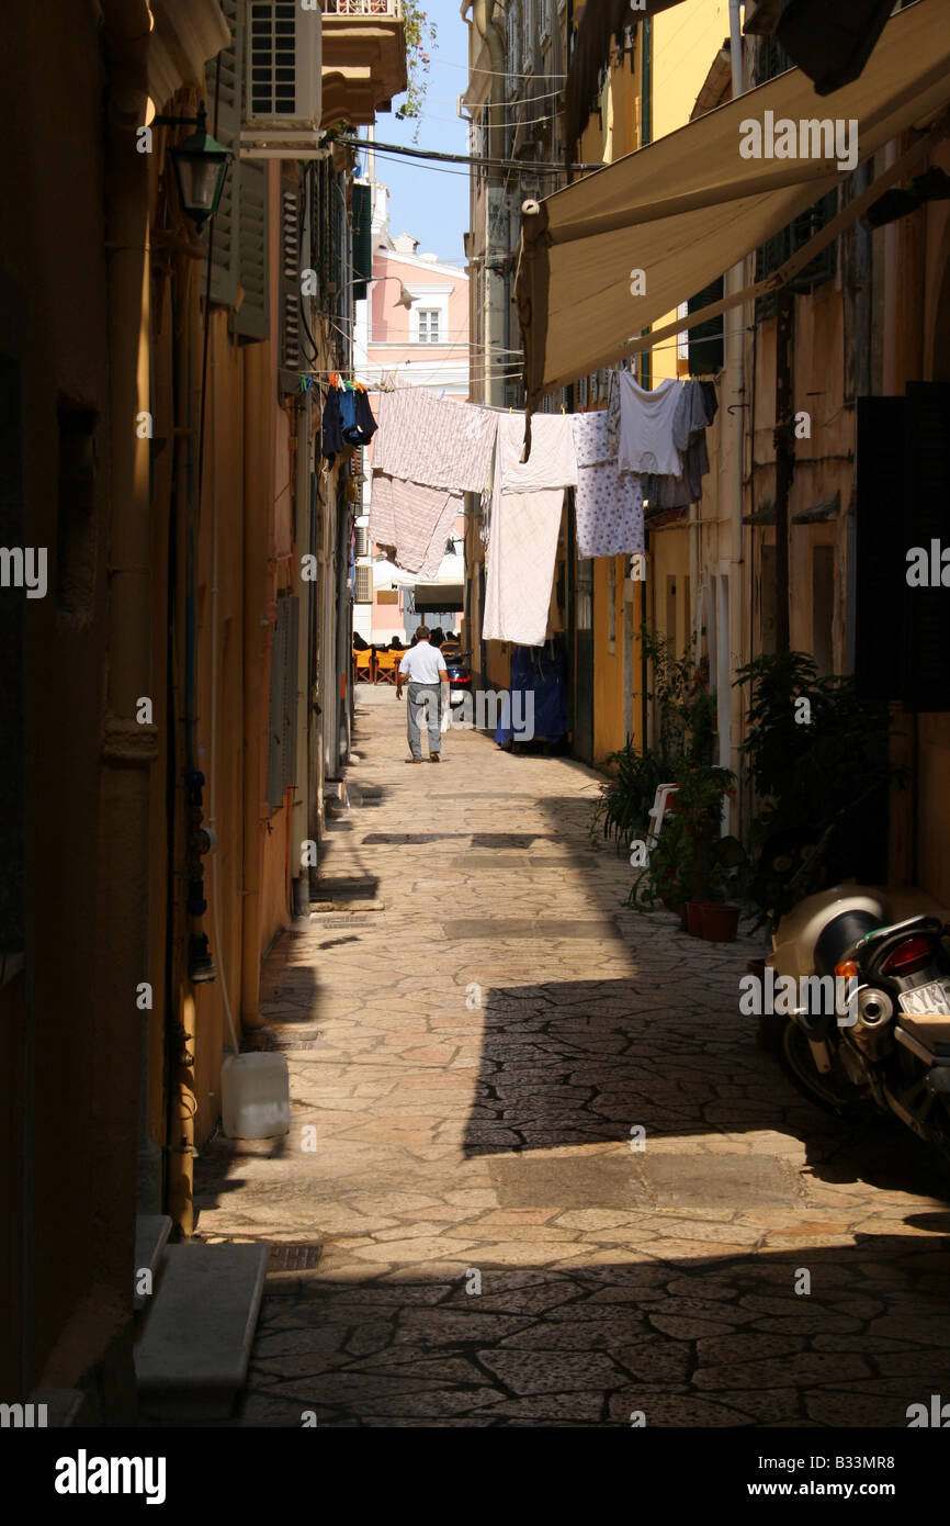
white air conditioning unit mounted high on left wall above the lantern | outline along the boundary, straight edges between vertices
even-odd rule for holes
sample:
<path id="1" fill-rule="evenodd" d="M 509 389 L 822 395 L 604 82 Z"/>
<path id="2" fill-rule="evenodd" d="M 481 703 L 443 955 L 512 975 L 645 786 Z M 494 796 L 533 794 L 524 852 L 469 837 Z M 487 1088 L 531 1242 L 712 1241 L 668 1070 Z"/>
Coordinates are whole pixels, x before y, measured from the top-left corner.
<path id="1" fill-rule="evenodd" d="M 325 159 L 323 14 L 300 0 L 247 0 L 242 159 Z"/>

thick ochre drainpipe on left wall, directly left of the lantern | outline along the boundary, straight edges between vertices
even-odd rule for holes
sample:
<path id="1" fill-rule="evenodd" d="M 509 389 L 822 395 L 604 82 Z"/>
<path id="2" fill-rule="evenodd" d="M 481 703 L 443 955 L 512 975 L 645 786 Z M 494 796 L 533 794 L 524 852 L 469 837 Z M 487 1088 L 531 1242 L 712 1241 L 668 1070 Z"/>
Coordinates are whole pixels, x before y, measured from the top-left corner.
<path id="1" fill-rule="evenodd" d="M 93 1170 L 116 1207 L 114 1233 L 98 1238 L 96 1280 L 128 1286 L 136 1192 L 136 1151 L 116 1140 L 139 1134 L 142 1025 L 136 986 L 149 978 L 149 768 L 157 728 L 136 720 L 140 696 L 156 699 L 151 664 L 149 443 L 136 414 L 149 394 L 149 177 L 136 146 L 148 108 L 148 47 L 154 20 L 146 0 L 102 0 L 107 58 L 104 211 L 108 302 L 110 554 L 105 615 L 105 693 L 99 771 L 96 967 L 99 1090 L 88 1129 L 99 1158 Z M 95 1036 L 93 1036 L 95 1038 Z M 136 1077 L 133 1083 L 133 1077 Z M 125 1303 L 125 1300 L 124 1300 Z"/>

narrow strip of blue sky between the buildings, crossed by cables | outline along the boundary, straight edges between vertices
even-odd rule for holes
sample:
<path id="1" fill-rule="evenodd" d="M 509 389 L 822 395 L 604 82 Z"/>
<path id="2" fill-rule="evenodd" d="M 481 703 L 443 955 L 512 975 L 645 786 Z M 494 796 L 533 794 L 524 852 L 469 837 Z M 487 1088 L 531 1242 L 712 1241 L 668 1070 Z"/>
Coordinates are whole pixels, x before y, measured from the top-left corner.
<path id="1" fill-rule="evenodd" d="M 436 41 L 428 49 L 427 95 L 422 119 L 401 122 L 395 110 L 377 114 L 377 139 L 407 148 L 435 148 L 439 153 L 467 154 L 468 127 L 459 119 L 457 99 L 468 85 L 468 26 L 462 21 L 459 0 L 428 0 L 428 17 L 436 23 Z M 396 96 L 393 105 L 400 105 Z M 418 142 L 415 133 L 418 127 Z M 419 253 L 433 253 L 453 266 L 465 264 L 462 235 L 468 227 L 468 168 L 442 165 L 438 169 L 412 159 L 377 154 L 377 180 L 389 186 L 389 230 L 412 233 Z"/>

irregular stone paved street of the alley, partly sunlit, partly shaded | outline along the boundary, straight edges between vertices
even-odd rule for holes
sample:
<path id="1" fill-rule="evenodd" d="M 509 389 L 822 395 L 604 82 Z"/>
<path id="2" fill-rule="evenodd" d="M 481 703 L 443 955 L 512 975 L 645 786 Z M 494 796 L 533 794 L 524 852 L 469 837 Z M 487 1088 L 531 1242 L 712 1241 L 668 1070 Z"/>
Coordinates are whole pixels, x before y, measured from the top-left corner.
<path id="1" fill-rule="evenodd" d="M 622 908 L 590 769 L 461 731 L 416 769 L 395 691 L 357 693 L 326 909 L 265 969 L 291 1132 L 198 1161 L 203 1236 L 288 1247 L 242 1424 L 903 1427 L 950 1396 L 947 1183 L 756 1048 L 761 948 Z"/>

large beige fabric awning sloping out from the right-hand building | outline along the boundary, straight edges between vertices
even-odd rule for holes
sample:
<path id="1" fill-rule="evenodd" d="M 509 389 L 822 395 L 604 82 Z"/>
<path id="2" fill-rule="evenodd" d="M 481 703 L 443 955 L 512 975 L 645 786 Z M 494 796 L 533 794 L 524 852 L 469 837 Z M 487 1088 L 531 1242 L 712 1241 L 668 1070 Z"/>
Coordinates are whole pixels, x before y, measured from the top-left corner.
<path id="1" fill-rule="evenodd" d="M 860 163 L 906 128 L 929 124 L 948 101 L 950 5 L 916 0 L 891 18 L 860 79 L 834 95 L 816 96 L 802 70 L 790 69 L 535 203 L 523 218 L 515 287 L 529 409 L 546 392 L 695 324 L 698 314 L 640 337 L 854 168 L 837 168 L 846 150 L 831 159 L 744 159 L 743 122 L 767 127 L 765 113 L 796 127 L 831 119 L 843 124 L 843 143 L 857 122 Z M 764 131 L 762 146 L 769 140 Z M 903 172 L 881 175 L 874 194 Z M 863 204 L 849 203 L 845 221 Z M 631 296 L 633 270 L 643 272 L 645 295 Z M 733 293 L 726 305 L 756 290 Z"/>

